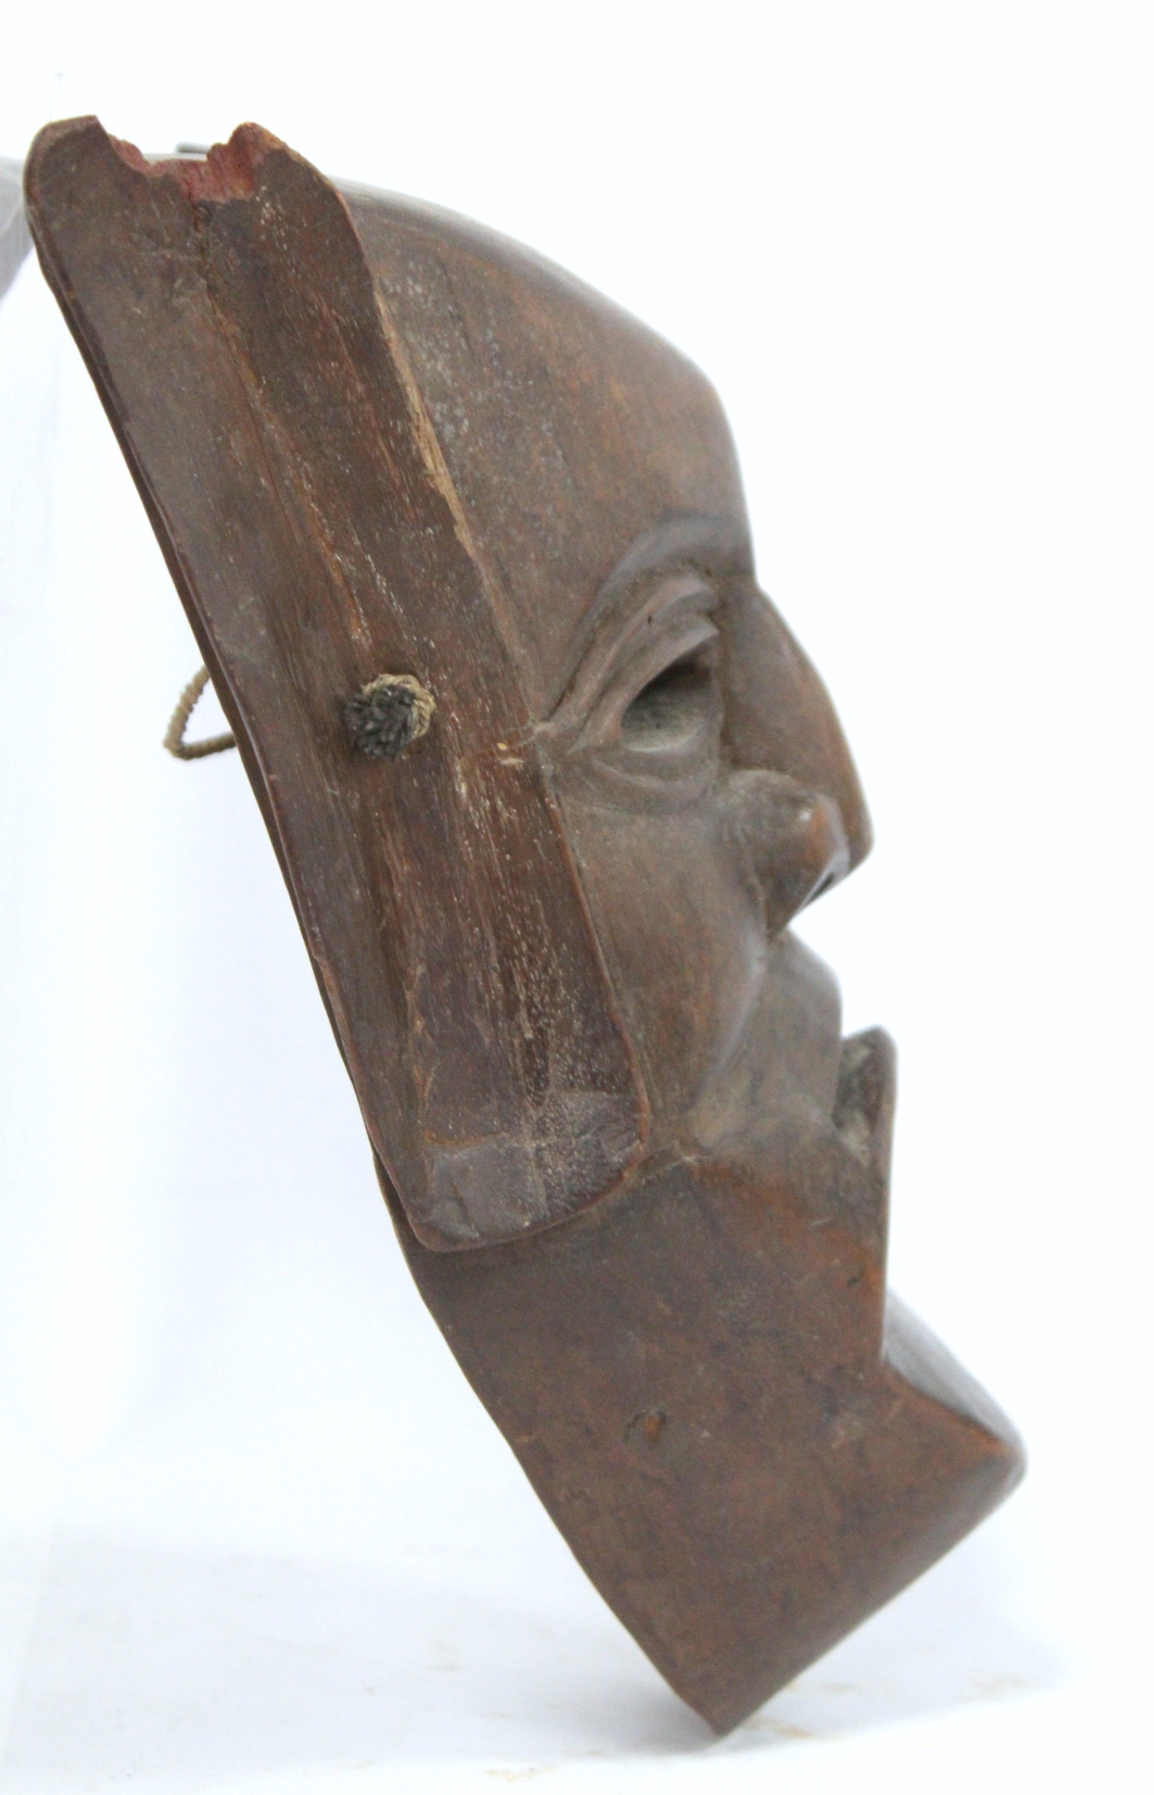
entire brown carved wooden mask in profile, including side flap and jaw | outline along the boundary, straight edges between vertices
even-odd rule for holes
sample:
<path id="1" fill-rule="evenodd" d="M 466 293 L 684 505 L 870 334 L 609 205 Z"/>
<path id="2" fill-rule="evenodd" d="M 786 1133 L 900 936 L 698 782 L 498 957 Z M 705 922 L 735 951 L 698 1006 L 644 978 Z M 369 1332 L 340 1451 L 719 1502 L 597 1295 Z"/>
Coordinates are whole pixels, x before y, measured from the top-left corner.
<path id="1" fill-rule="evenodd" d="M 255 126 L 29 165 L 262 802 L 413 1274 L 605 1599 L 730 1727 L 987 1513 L 885 1292 L 894 1055 L 791 915 L 869 849 L 666 343 Z M 380 673 L 434 700 L 357 754 Z"/>

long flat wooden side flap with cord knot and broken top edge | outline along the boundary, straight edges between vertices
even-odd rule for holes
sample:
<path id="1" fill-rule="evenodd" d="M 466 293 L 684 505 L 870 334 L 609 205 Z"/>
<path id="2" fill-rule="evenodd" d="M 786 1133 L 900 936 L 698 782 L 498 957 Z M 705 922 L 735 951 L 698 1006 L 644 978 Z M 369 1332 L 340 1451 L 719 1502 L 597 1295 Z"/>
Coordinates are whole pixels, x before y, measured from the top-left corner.
<path id="1" fill-rule="evenodd" d="M 345 201 L 257 126 L 153 165 L 56 124 L 27 188 L 415 1233 L 485 1246 L 587 1208 L 639 1160 L 646 1097 Z"/>

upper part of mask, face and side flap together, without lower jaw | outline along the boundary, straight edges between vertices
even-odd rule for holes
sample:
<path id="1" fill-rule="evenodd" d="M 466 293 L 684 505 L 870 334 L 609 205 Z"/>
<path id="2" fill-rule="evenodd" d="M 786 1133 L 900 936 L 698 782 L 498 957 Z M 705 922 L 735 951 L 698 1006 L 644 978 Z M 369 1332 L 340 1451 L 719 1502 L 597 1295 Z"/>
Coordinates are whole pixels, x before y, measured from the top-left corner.
<path id="1" fill-rule="evenodd" d="M 827 1115 L 836 998 L 782 930 L 869 826 L 709 382 L 255 126 L 153 167 L 52 126 L 29 197 L 418 1239 Z M 436 702 L 397 761 L 345 723 L 382 679 Z"/>

